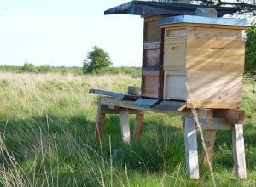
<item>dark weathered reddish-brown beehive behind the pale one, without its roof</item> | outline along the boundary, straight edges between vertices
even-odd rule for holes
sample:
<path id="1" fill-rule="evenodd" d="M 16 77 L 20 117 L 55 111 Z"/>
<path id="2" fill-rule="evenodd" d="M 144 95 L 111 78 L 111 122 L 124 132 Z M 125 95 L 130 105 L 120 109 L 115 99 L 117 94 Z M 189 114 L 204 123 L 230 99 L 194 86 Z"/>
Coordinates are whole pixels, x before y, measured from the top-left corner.
<path id="1" fill-rule="evenodd" d="M 161 15 L 144 17 L 142 96 L 162 99 L 164 85 L 164 29 L 157 25 Z"/>

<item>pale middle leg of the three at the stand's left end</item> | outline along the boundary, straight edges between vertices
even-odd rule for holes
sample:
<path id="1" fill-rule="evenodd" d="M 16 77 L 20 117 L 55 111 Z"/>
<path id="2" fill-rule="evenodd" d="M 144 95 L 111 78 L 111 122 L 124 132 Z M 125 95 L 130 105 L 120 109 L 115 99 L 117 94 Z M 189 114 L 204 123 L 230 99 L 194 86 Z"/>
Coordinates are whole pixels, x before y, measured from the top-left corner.
<path id="1" fill-rule="evenodd" d="M 120 108 L 120 125 L 121 125 L 121 135 L 123 141 L 130 143 L 130 124 L 129 124 L 129 111 L 128 109 Z"/>

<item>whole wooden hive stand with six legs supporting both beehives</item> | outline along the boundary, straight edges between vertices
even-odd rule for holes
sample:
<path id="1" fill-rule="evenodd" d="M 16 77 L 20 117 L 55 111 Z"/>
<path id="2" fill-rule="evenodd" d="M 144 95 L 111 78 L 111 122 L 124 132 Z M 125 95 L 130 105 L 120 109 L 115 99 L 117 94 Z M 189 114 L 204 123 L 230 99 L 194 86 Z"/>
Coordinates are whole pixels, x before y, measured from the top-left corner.
<path id="1" fill-rule="evenodd" d="M 190 109 L 166 110 L 157 109 L 155 107 L 141 107 L 134 105 L 134 101 L 123 100 L 116 97 L 101 97 L 96 117 L 95 139 L 102 139 L 104 122 L 106 114 L 119 114 L 121 136 L 125 144 L 130 143 L 130 124 L 129 114 L 136 114 L 136 120 L 133 130 L 135 139 L 140 139 L 143 132 L 143 118 L 146 111 L 154 111 L 158 113 L 166 113 L 182 116 L 184 125 L 185 139 L 185 155 L 186 167 L 189 178 L 199 179 L 199 163 L 196 130 L 201 128 L 204 130 L 204 141 L 206 150 L 202 150 L 201 161 L 205 167 L 211 167 L 214 150 L 214 142 L 217 130 L 231 130 L 233 155 L 235 163 L 235 174 L 237 178 L 247 178 L 245 148 L 243 138 L 243 123 L 245 111 L 239 109 L 197 109 L 197 117 Z M 207 152 L 206 152 L 207 151 Z"/>

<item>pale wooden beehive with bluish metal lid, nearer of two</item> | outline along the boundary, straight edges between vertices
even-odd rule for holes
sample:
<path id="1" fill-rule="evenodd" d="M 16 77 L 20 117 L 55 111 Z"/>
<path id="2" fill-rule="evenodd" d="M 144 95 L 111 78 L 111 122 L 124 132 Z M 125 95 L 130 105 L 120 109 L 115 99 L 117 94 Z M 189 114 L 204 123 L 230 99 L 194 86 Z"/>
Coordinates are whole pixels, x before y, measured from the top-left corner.
<path id="1" fill-rule="evenodd" d="M 163 18 L 163 98 L 188 108 L 241 106 L 247 20 L 181 15 Z"/>

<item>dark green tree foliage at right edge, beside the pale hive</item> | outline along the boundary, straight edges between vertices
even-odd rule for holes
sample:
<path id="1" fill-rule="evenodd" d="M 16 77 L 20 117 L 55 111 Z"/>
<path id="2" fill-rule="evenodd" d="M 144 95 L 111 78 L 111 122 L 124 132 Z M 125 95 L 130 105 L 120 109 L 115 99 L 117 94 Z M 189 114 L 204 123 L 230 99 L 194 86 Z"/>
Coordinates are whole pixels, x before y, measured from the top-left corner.
<path id="1" fill-rule="evenodd" d="M 248 72 L 256 73 L 256 24 L 246 31 L 246 58 L 245 66 Z"/>

